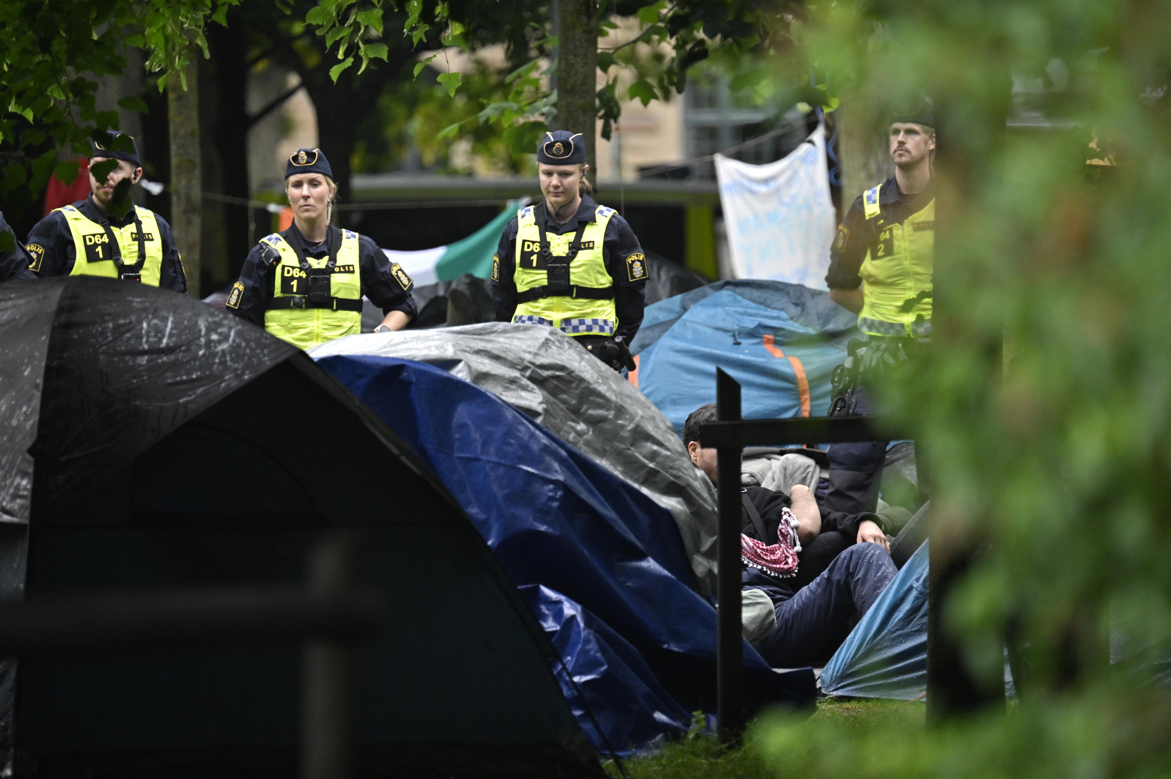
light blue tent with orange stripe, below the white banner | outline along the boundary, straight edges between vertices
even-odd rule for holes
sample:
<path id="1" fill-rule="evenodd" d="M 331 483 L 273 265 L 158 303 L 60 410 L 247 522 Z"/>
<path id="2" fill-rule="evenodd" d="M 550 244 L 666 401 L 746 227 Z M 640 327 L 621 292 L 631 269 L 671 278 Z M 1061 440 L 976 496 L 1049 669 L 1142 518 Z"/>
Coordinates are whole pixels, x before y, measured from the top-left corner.
<path id="1" fill-rule="evenodd" d="M 715 400 L 715 368 L 740 382 L 745 418 L 821 416 L 830 374 L 857 335 L 827 292 L 774 281 L 723 281 L 646 309 L 632 344 L 638 388 L 683 430 Z"/>

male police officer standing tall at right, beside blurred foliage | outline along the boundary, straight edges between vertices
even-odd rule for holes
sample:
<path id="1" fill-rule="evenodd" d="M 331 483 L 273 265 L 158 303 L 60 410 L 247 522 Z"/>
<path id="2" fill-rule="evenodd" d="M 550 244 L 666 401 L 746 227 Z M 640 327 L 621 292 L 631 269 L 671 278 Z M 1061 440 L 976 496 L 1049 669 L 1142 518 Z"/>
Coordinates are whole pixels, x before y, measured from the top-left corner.
<path id="1" fill-rule="evenodd" d="M 851 342 L 847 365 L 835 371 L 830 415 L 874 413 L 867 382 L 923 352 L 931 336 L 934 124 L 925 97 L 892 111 L 895 175 L 863 192 L 837 228 L 826 276 L 829 296 L 858 315 L 867 342 Z M 886 442 L 831 446 L 823 505 L 831 511 L 874 511 L 885 451 Z"/>

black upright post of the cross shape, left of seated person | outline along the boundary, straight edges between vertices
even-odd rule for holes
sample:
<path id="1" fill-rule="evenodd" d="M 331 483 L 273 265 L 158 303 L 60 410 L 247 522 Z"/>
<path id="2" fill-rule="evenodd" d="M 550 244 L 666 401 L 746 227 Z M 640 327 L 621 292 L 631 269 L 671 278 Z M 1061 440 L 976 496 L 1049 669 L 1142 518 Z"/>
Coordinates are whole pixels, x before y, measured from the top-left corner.
<path id="1" fill-rule="evenodd" d="M 740 419 L 740 384 L 715 368 L 715 418 Z M 717 728 L 725 743 L 744 735 L 744 639 L 740 618 L 740 459 L 741 446 L 717 449 L 719 535 L 715 585 L 717 618 Z"/>

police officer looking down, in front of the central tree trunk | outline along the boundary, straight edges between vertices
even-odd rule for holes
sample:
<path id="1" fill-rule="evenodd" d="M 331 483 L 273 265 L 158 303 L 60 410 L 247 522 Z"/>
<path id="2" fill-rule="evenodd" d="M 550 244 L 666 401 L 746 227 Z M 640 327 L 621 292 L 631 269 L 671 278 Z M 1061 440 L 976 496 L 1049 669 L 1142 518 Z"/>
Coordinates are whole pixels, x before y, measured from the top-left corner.
<path id="1" fill-rule="evenodd" d="M 516 212 L 492 258 L 497 320 L 556 328 L 615 370 L 632 367 L 646 257 L 586 179 L 581 133 L 546 132 L 536 149 L 540 204 Z"/>

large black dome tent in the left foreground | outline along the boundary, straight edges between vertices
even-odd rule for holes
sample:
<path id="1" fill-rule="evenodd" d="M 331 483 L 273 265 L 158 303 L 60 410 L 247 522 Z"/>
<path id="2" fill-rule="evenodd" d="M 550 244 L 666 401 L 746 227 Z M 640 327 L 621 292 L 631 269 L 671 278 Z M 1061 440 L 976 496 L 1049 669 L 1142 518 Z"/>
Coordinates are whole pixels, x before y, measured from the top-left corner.
<path id="1" fill-rule="evenodd" d="M 362 540 L 363 775 L 598 771 L 555 650 L 433 474 L 301 351 L 173 292 L 0 287 L 0 598 L 293 584 Z M 2 626 L 0 626 L 2 629 Z M 300 648 L 30 656 L 0 746 L 43 775 L 294 770 Z"/>

